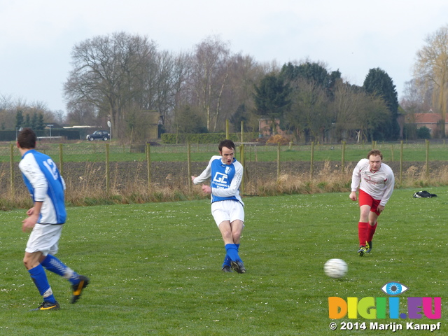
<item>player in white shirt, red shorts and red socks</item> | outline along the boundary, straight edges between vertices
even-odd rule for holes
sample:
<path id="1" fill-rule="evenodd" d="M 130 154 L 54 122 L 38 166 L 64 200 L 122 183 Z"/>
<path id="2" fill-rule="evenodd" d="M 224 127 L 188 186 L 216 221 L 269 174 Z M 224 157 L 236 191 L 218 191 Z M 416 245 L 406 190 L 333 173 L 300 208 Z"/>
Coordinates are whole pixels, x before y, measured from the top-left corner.
<path id="1" fill-rule="evenodd" d="M 360 217 L 358 222 L 358 255 L 372 251 L 372 238 L 377 229 L 377 219 L 391 198 L 395 177 L 391 167 L 386 165 L 380 151 L 374 149 L 367 159 L 358 162 L 351 176 L 350 200 L 356 201 L 359 187 Z"/>

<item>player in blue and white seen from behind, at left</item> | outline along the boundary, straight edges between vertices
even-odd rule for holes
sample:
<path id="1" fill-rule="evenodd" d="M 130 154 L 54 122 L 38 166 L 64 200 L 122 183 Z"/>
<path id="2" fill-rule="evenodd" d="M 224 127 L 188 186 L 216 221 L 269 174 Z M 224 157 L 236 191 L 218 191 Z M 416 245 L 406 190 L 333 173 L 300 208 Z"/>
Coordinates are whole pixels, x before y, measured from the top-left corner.
<path id="1" fill-rule="evenodd" d="M 31 231 L 23 262 L 43 297 L 43 303 L 32 310 L 55 310 L 59 309 L 59 303 L 52 293 L 45 269 L 70 281 L 73 288 L 71 303 L 78 300 L 89 279 L 76 274 L 54 256 L 66 221 L 65 183 L 55 162 L 34 149 L 36 134 L 30 128 L 20 131 L 17 146 L 22 155 L 19 168 L 34 203 L 34 207 L 27 211 L 28 217 L 22 221 L 22 231 Z"/>

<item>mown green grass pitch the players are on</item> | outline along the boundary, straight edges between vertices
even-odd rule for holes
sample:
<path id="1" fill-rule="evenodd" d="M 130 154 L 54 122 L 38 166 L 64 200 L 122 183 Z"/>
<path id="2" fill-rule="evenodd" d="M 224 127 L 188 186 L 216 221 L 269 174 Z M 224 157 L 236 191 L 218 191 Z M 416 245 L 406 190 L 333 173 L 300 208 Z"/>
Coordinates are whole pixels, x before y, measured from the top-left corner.
<path id="1" fill-rule="evenodd" d="M 221 272 L 223 242 L 207 200 L 71 207 L 59 243 L 61 260 L 91 284 L 69 304 L 69 283 L 49 274 L 60 311 L 28 311 L 41 303 L 22 265 L 25 211 L 2 214 L 0 335 L 384 335 L 391 330 L 331 331 L 328 297 L 387 297 L 398 281 L 405 297 L 442 297 L 442 330 L 397 335 L 447 335 L 448 187 L 414 199 L 395 190 L 380 216 L 374 248 L 356 255 L 358 206 L 348 193 L 246 197 L 240 255 L 248 272 Z M 323 263 L 342 258 L 343 279 Z"/>

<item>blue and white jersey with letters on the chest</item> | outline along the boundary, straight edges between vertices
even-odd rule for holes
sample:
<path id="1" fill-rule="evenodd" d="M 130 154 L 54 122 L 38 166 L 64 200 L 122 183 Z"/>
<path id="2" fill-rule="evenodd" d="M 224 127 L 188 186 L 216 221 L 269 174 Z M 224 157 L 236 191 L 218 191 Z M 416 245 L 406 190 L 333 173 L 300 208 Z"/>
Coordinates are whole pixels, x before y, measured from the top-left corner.
<path id="1" fill-rule="evenodd" d="M 243 166 L 235 158 L 230 165 L 223 163 L 223 157 L 214 155 L 204 172 L 193 181 L 195 184 L 210 178 L 211 203 L 235 200 L 244 205 L 239 195 L 239 185 L 243 178 Z"/>

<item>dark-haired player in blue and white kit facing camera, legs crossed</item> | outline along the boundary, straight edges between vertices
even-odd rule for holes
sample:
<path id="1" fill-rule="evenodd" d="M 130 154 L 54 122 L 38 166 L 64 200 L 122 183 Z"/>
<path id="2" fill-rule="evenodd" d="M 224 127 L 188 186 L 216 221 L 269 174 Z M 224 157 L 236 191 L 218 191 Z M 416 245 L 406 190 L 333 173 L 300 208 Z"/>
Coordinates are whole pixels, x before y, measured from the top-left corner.
<path id="1" fill-rule="evenodd" d="M 246 273 L 243 260 L 239 258 L 239 241 L 244 228 L 244 203 L 239 195 L 243 178 L 243 166 L 233 155 L 235 144 L 223 140 L 218 146 L 220 155 L 214 155 L 200 176 L 191 176 L 199 184 L 211 179 L 210 186 L 203 185 L 202 191 L 211 194 L 211 214 L 218 225 L 225 245 L 223 272 Z"/>

